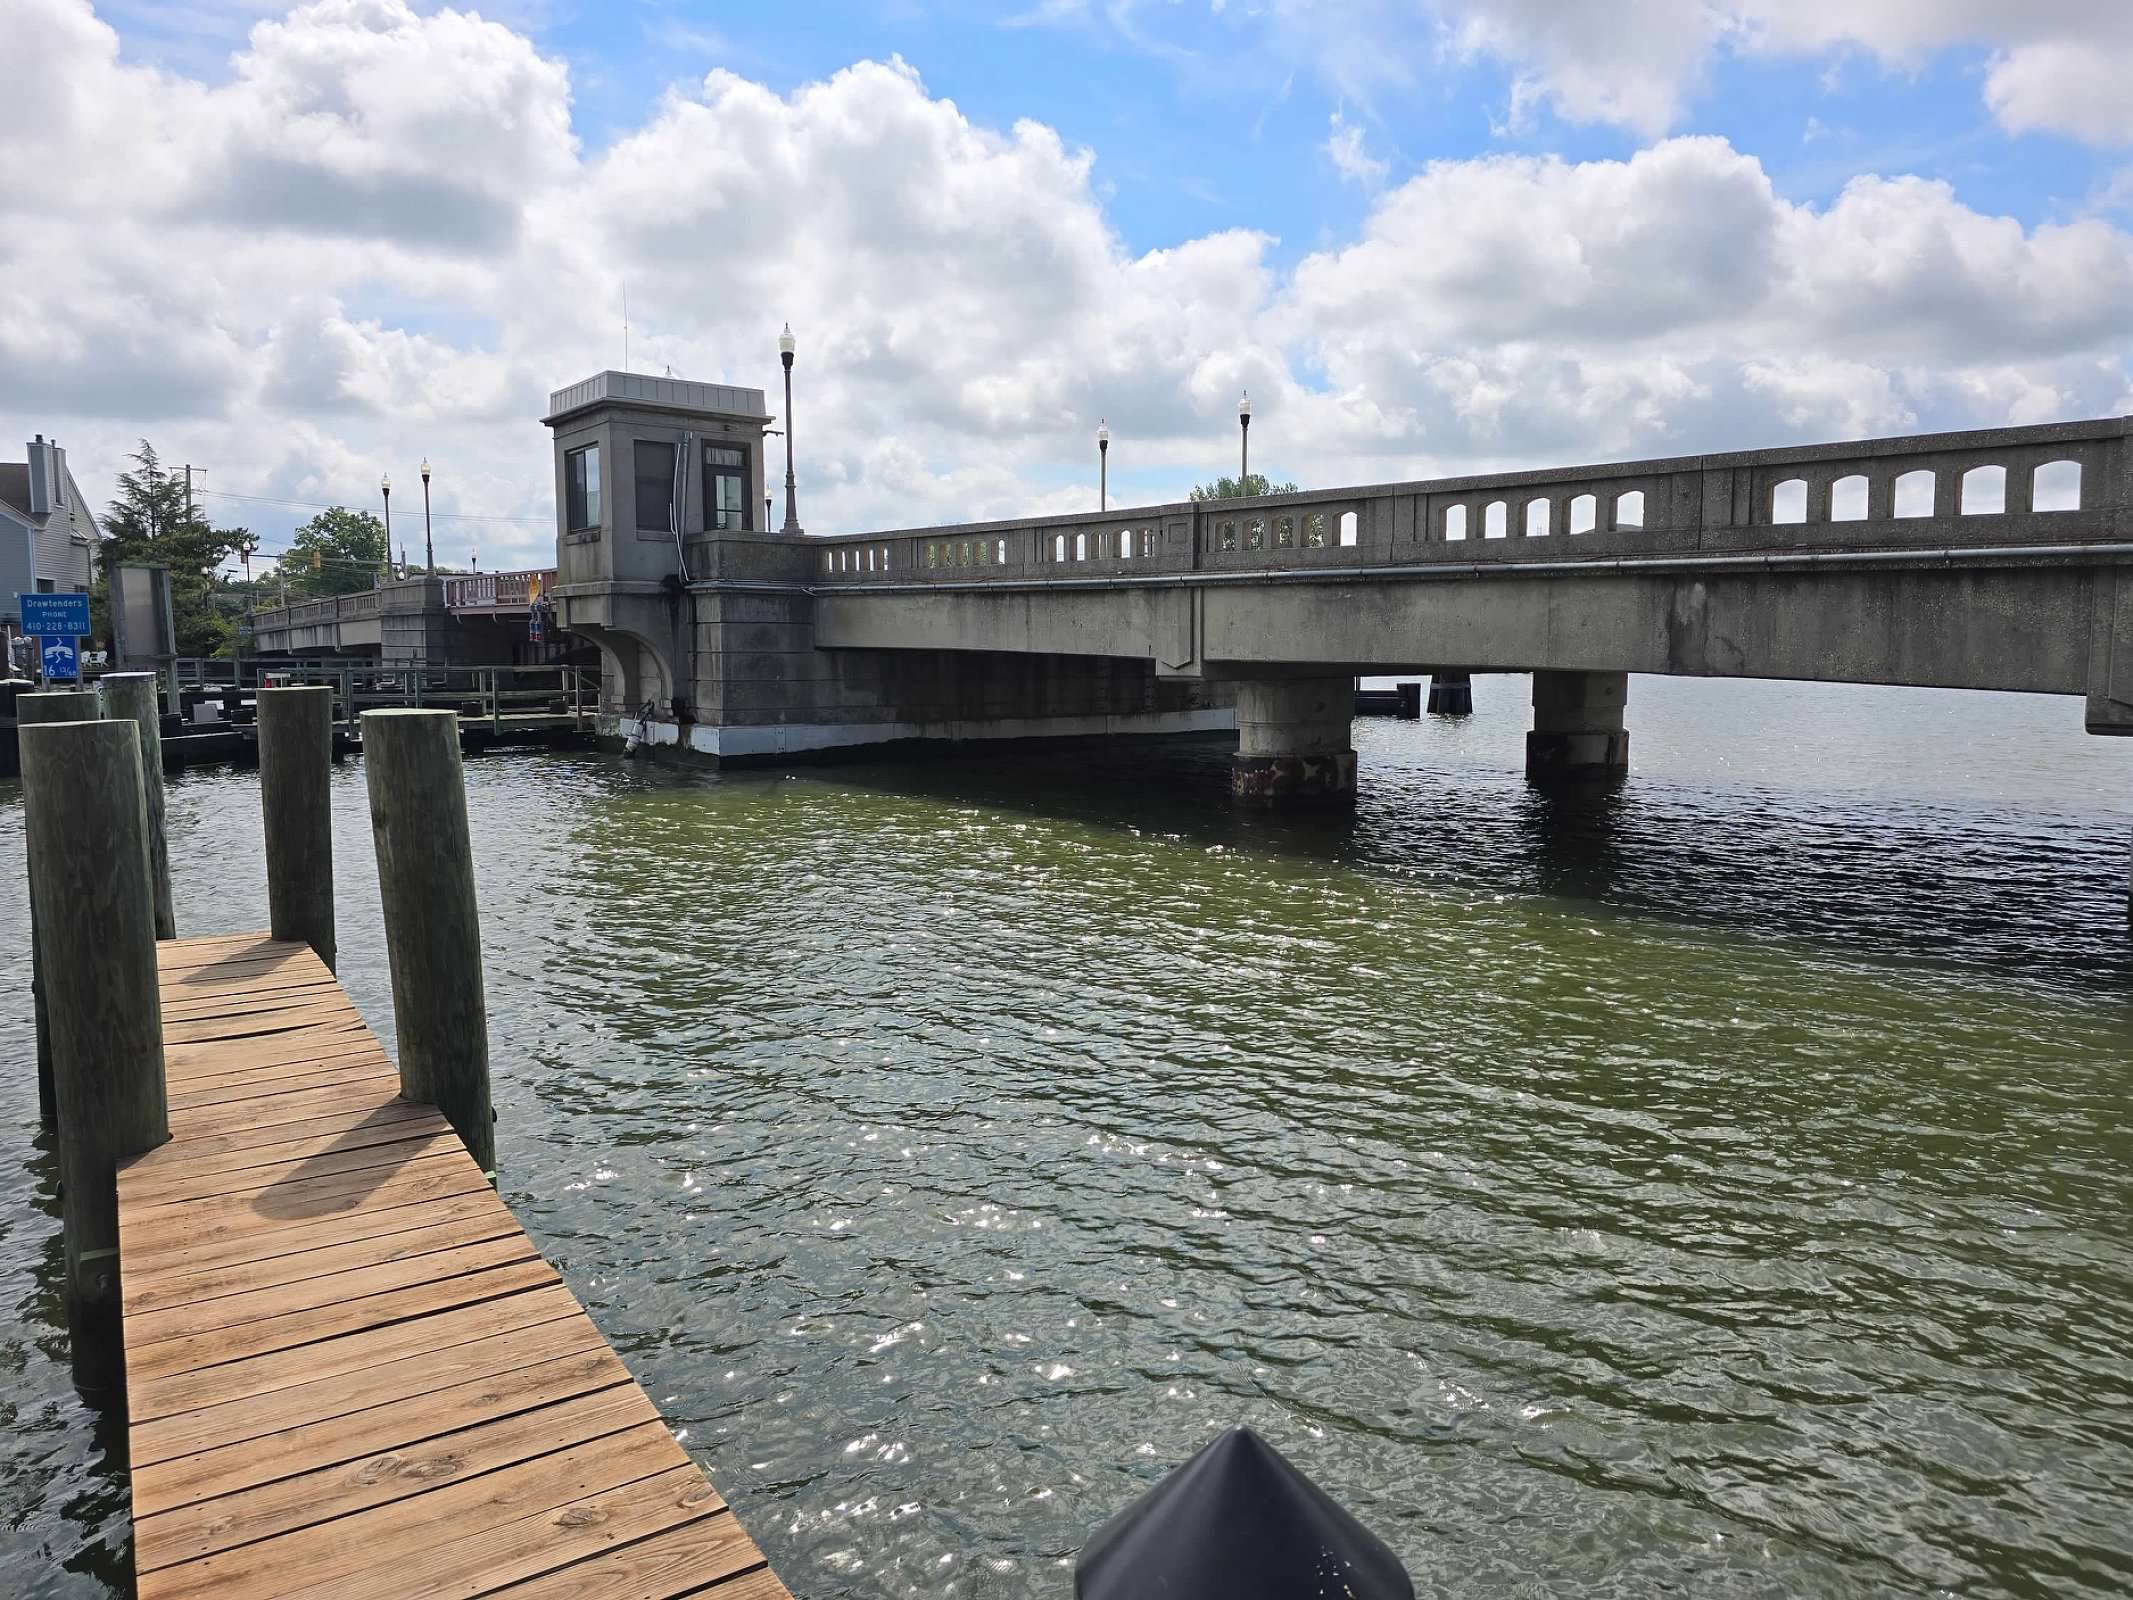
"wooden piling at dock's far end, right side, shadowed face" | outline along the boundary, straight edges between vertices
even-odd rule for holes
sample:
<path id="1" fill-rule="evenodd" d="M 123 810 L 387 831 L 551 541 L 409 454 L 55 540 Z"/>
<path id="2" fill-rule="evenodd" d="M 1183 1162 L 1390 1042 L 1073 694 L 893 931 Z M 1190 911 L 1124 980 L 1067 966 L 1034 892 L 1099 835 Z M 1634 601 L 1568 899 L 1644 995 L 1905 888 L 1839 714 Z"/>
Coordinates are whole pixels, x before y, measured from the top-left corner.
<path id="1" fill-rule="evenodd" d="M 269 930 L 316 949 L 331 973 L 333 689 L 260 689 L 258 745 Z"/>

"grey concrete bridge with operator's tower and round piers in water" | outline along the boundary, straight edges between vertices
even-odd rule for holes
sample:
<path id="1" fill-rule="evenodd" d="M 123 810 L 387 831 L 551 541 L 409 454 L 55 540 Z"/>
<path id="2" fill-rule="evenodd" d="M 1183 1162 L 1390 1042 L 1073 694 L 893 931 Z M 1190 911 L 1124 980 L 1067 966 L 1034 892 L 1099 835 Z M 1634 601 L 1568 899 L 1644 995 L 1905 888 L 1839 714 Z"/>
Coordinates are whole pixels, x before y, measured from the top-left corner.
<path id="1" fill-rule="evenodd" d="M 1235 727 L 1241 796 L 1340 794 L 1352 678 L 1438 670 L 1534 674 L 1534 777 L 1625 770 L 1634 672 L 2133 732 L 2133 418 L 832 538 L 747 521 L 759 390 L 602 373 L 546 420 L 606 732 L 717 759 Z M 729 527 L 706 446 L 749 474 Z"/>

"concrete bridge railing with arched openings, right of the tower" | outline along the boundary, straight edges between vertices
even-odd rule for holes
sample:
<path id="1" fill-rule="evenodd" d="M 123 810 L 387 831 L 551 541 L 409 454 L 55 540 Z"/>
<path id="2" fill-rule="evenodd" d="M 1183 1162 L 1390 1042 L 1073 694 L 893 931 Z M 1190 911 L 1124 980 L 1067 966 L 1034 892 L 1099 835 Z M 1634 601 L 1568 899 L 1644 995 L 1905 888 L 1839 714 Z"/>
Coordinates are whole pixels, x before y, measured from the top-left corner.
<path id="1" fill-rule="evenodd" d="M 2133 418 L 834 535 L 817 582 L 2110 540 L 2133 540 Z"/>

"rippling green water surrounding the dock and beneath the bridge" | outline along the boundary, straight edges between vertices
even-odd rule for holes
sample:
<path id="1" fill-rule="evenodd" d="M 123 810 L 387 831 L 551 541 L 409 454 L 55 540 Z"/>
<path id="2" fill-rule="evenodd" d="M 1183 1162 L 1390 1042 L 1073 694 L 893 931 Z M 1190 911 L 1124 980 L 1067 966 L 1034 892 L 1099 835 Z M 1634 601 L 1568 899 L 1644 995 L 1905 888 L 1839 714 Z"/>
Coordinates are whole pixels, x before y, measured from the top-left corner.
<path id="1" fill-rule="evenodd" d="M 2133 1589 L 2133 751 L 1638 681 L 1557 802 L 1480 689 L 1337 821 L 1207 747 L 469 764 L 506 1197 L 798 1594 L 1064 1596 L 1233 1421 L 1423 1594 Z M 262 926 L 254 779 L 171 817 L 181 930 Z M 0 994 L 0 1587 L 113 1594 L 19 894 Z"/>

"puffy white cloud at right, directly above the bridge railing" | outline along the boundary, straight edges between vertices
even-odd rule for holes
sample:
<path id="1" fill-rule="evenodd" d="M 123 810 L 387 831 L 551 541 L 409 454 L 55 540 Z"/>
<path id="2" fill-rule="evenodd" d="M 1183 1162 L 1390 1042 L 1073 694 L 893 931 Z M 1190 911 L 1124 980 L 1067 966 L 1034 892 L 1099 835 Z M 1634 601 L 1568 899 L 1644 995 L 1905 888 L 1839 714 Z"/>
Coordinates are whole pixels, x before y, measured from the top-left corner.
<path id="1" fill-rule="evenodd" d="M 1922 179 L 1792 205 L 1726 141 L 1672 139 L 1433 164 L 1305 258 L 1282 316 L 1406 418 L 1384 448 L 1450 465 L 2097 414 L 2127 305 L 2124 230 L 2024 230 Z"/>

